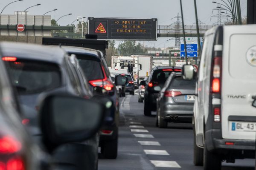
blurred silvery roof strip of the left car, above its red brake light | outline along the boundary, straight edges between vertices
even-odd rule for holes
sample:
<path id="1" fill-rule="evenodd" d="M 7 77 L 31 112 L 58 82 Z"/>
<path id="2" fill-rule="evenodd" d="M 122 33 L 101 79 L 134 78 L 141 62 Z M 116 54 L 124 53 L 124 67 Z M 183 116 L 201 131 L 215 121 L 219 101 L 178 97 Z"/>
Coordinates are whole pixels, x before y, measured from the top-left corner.
<path id="1" fill-rule="evenodd" d="M 12 56 L 19 57 L 20 59 L 52 62 L 61 65 L 64 57 L 67 56 L 67 53 L 58 46 L 49 48 L 48 46 L 20 42 L 0 42 L 0 46 L 3 57 Z"/>

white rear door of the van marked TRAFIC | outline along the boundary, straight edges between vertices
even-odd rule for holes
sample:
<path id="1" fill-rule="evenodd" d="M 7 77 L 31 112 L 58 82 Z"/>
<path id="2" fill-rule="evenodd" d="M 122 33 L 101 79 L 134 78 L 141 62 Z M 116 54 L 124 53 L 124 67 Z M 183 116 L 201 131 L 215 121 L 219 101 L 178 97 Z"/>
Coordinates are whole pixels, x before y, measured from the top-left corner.
<path id="1" fill-rule="evenodd" d="M 224 139 L 255 139 L 256 26 L 224 27 L 221 130 Z"/>

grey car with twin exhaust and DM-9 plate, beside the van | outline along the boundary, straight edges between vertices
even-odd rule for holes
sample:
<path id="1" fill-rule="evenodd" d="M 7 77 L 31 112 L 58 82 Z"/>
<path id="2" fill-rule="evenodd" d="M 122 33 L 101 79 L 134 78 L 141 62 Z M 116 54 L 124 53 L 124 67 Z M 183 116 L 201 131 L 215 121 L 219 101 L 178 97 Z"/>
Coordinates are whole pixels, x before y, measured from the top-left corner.
<path id="1" fill-rule="evenodd" d="M 185 80 L 172 73 L 157 98 L 156 124 L 167 127 L 168 122 L 192 123 L 195 102 L 195 79 Z"/>

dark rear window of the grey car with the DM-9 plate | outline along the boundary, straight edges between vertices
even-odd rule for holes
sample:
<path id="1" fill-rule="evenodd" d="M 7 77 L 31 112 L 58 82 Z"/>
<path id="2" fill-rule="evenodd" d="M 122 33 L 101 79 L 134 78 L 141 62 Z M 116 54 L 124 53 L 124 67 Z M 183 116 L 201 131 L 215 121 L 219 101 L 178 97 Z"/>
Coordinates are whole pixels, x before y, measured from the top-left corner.
<path id="1" fill-rule="evenodd" d="M 172 79 L 169 88 L 195 88 L 195 79 L 184 80 L 181 76 Z"/>

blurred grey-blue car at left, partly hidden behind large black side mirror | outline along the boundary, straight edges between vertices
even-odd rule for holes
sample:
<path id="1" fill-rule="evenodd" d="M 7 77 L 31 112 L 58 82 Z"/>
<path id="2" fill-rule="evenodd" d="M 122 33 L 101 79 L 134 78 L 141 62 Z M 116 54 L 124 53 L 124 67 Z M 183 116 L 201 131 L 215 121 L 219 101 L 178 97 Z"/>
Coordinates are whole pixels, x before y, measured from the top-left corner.
<path id="1" fill-rule="evenodd" d="M 35 140 L 41 138 L 37 103 L 44 96 L 57 92 L 87 99 L 93 96 L 76 58 L 68 56 L 63 49 L 9 42 L 0 45 L 10 79 L 17 88 L 25 124 Z M 95 170 L 98 167 L 98 144 L 99 134 L 96 134 L 88 141 L 61 146 L 53 156 L 64 166 L 70 164 Z M 72 154 L 74 156 L 70 158 Z"/>

